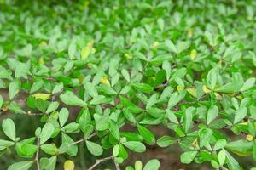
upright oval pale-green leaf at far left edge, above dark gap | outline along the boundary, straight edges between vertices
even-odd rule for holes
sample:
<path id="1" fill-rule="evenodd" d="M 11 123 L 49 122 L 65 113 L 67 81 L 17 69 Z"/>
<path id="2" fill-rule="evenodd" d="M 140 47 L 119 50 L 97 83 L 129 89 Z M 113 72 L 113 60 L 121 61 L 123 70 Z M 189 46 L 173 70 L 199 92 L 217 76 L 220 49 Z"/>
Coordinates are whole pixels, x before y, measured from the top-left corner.
<path id="1" fill-rule="evenodd" d="M 3 133 L 9 137 L 9 139 L 12 139 L 15 141 L 16 139 L 16 129 L 15 129 L 15 122 L 11 120 L 10 118 L 4 119 L 2 122 L 3 127 Z"/>

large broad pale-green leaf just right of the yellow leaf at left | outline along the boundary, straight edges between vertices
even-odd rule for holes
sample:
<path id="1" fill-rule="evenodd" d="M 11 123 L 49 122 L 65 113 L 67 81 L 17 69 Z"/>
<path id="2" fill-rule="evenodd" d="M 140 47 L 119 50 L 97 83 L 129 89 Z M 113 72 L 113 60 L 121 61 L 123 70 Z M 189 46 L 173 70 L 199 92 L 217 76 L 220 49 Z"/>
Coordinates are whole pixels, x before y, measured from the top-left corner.
<path id="1" fill-rule="evenodd" d="M 82 99 L 79 99 L 75 94 L 73 94 L 70 91 L 66 92 L 65 94 L 61 94 L 60 99 L 66 105 L 77 105 L 77 106 L 86 105 L 86 103 Z"/>

